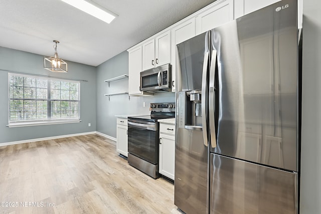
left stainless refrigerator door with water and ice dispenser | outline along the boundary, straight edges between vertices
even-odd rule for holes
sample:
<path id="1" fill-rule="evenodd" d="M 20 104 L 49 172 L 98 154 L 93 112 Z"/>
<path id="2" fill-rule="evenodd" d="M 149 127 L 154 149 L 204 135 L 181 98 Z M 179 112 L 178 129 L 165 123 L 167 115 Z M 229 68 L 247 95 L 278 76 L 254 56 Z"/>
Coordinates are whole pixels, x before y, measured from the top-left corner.
<path id="1" fill-rule="evenodd" d="M 209 149 L 203 139 L 208 124 L 202 126 L 206 111 L 201 109 L 208 102 L 202 77 L 206 71 L 208 82 L 209 45 L 210 32 L 177 45 L 174 203 L 186 213 L 208 213 L 209 207 Z"/>

